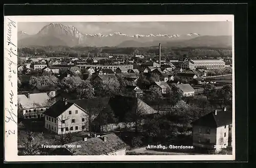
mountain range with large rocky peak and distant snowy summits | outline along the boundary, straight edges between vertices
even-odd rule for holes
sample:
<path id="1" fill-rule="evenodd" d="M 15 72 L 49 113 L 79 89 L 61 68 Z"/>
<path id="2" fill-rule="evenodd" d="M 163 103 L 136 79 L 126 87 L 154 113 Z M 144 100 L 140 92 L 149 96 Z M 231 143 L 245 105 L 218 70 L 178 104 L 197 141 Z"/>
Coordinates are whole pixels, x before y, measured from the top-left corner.
<path id="1" fill-rule="evenodd" d="M 49 24 L 37 34 L 18 32 L 18 47 L 31 46 L 91 46 L 91 47 L 151 47 L 159 43 L 166 47 L 230 47 L 231 36 L 201 36 L 189 34 L 83 34 L 74 26 Z"/>

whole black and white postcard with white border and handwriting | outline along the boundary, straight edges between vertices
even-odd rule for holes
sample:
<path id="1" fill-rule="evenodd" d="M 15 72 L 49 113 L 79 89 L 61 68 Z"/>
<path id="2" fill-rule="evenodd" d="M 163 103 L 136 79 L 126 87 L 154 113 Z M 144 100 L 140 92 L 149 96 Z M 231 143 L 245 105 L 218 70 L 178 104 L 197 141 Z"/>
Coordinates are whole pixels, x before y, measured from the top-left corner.
<path id="1" fill-rule="evenodd" d="M 235 159 L 233 15 L 4 22 L 6 161 Z"/>

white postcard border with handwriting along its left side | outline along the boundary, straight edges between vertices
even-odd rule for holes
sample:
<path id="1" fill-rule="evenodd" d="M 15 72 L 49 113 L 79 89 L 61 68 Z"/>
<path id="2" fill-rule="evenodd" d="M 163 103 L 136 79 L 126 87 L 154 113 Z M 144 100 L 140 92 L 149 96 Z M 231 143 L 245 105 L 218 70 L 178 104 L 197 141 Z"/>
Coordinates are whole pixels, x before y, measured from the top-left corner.
<path id="1" fill-rule="evenodd" d="M 50 20 L 49 20 L 50 18 Z M 72 20 L 72 21 L 70 21 Z M 232 22 L 232 155 L 18 156 L 17 155 L 17 23 L 18 22 Z M 15 24 L 14 24 L 15 23 Z M 14 25 L 15 26 L 14 26 Z M 234 16 L 233 15 L 52 15 L 4 18 L 5 161 L 197 161 L 235 159 Z M 11 42 L 11 43 L 9 43 Z M 8 45 L 9 44 L 9 45 Z M 11 71 L 11 72 L 9 72 Z M 12 84 L 12 85 L 11 85 Z M 12 95 L 13 93 L 13 95 Z M 13 111 L 13 114 L 11 113 Z M 13 118 L 12 118 L 13 117 Z M 13 120 L 13 121 L 12 121 Z"/>

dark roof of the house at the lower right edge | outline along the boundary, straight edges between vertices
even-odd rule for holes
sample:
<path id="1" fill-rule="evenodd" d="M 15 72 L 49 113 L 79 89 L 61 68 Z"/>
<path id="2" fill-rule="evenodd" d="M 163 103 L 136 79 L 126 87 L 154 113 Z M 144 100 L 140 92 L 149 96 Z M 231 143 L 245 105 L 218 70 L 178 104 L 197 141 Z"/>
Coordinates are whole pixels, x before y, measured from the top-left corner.
<path id="1" fill-rule="evenodd" d="M 197 119 L 192 124 L 206 126 L 210 128 L 217 128 L 217 127 L 221 127 L 223 125 L 227 125 L 231 123 L 232 123 L 232 112 L 218 110 L 217 115 L 215 115 L 215 112 L 210 112 L 209 114 L 206 114 L 205 116 Z"/>

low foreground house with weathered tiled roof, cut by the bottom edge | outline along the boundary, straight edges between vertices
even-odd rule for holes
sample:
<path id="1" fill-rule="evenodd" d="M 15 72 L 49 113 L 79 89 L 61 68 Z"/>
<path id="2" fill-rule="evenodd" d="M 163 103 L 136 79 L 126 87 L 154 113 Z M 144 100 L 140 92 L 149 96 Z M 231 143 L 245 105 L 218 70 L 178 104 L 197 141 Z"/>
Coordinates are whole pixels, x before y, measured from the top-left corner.
<path id="1" fill-rule="evenodd" d="M 80 148 L 59 148 L 53 151 L 53 155 L 125 155 L 125 151 L 130 148 L 114 133 L 93 138 L 84 137 L 83 140 L 65 146 Z"/>

